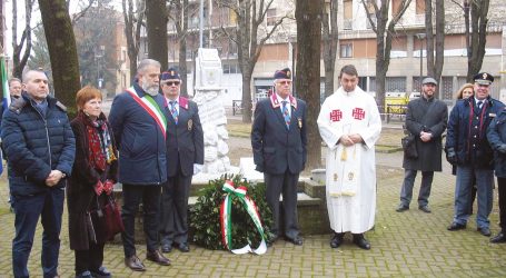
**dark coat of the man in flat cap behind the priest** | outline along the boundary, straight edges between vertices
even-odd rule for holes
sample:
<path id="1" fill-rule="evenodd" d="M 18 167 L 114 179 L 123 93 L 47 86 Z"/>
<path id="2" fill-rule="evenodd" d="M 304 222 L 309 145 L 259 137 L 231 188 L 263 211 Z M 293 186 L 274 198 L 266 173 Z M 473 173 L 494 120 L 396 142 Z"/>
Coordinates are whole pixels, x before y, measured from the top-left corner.
<path id="1" fill-rule="evenodd" d="M 445 102 L 419 97 L 409 101 L 406 111 L 406 129 L 416 138 L 418 158 L 404 157 L 403 168 L 420 171 L 441 170 L 441 136 L 448 121 L 448 107 Z M 420 132 L 433 135 L 428 142 L 420 139 Z"/>

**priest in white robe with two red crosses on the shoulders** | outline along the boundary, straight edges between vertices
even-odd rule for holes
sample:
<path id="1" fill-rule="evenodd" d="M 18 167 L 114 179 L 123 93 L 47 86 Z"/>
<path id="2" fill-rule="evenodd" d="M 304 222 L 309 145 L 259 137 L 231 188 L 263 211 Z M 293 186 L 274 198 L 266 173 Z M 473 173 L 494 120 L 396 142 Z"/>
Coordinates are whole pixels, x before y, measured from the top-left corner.
<path id="1" fill-rule="evenodd" d="M 328 147 L 327 208 L 335 231 L 330 247 L 339 247 L 350 231 L 354 244 L 370 249 L 364 232 L 375 221 L 375 143 L 381 120 L 375 99 L 357 87 L 355 66 L 345 66 L 339 79 L 341 87 L 325 100 L 317 121 Z"/>

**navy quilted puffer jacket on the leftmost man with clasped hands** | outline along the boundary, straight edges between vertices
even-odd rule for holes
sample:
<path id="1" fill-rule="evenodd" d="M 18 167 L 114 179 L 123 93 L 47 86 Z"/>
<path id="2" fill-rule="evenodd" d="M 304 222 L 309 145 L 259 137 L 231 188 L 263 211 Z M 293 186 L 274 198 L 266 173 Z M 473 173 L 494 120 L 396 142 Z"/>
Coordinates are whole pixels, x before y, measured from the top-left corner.
<path id="1" fill-rule="evenodd" d="M 51 170 L 70 176 L 76 140 L 67 108 L 48 97 L 43 116 L 26 92 L 11 103 L 2 118 L 2 142 L 9 157 L 9 186 L 12 195 L 33 195 L 49 190 L 46 178 Z M 66 179 L 56 187 L 65 187 Z"/>

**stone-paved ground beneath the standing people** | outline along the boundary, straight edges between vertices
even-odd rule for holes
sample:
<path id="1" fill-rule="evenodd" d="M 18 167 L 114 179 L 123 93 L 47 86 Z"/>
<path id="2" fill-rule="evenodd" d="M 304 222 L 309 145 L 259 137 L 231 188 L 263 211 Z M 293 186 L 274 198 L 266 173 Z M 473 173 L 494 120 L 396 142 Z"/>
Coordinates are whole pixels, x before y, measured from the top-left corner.
<path id="1" fill-rule="evenodd" d="M 120 245 L 107 245 L 105 266 L 115 277 L 506 277 L 506 245 L 490 245 L 476 231 L 475 218 L 466 230 L 447 231 L 453 216 L 455 177 L 445 167 L 434 179 L 430 208 L 433 214 L 411 209 L 398 214 L 403 169 L 400 153 L 377 153 L 378 205 L 376 227 L 366 234 L 371 250 L 358 249 L 347 236 L 346 244 L 329 247 L 330 235 L 306 236 L 304 246 L 282 240 L 266 255 L 232 255 L 191 245 L 191 251 L 169 254 L 172 266 L 160 267 L 145 261 L 146 272 L 132 272 L 123 265 Z M 4 176 L 4 173 L 2 175 Z M 6 179 L 0 181 L 0 277 L 11 277 L 13 215 L 7 210 Z M 417 179 L 415 191 L 419 187 Z M 417 193 L 415 195 L 416 200 Z M 476 207 L 475 207 L 476 209 Z M 61 234 L 61 277 L 73 277 L 73 252 L 69 249 L 67 211 Z M 493 234 L 498 231 L 497 197 L 490 216 Z M 29 269 L 41 277 L 41 227 L 38 228 Z M 145 246 L 137 246 L 141 259 Z"/>

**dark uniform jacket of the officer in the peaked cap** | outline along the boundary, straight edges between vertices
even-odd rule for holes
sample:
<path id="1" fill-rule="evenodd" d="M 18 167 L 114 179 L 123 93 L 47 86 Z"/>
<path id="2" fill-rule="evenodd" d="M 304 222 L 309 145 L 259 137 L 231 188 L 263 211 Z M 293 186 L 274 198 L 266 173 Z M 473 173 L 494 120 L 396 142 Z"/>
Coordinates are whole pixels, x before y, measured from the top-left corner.
<path id="1" fill-rule="evenodd" d="M 494 155 L 486 132 L 492 120 L 504 109 L 504 103 L 488 97 L 484 103 L 483 117 L 478 117 L 482 118 L 482 123 L 476 126 L 472 125 L 470 118 L 475 106 L 473 97 L 457 101 L 449 116 L 445 149 L 454 148 L 457 165 L 493 169 Z M 472 142 L 472 128 L 478 130 L 477 143 Z"/>

